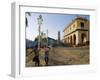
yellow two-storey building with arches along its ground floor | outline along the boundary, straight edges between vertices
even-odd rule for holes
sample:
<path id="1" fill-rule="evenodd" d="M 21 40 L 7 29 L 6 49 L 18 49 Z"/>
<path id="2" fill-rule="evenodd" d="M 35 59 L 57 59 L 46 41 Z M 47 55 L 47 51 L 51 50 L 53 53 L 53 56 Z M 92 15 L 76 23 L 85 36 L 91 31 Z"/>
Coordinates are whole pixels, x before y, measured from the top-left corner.
<path id="1" fill-rule="evenodd" d="M 89 20 L 77 17 L 64 29 L 64 43 L 81 45 L 89 43 Z"/>

